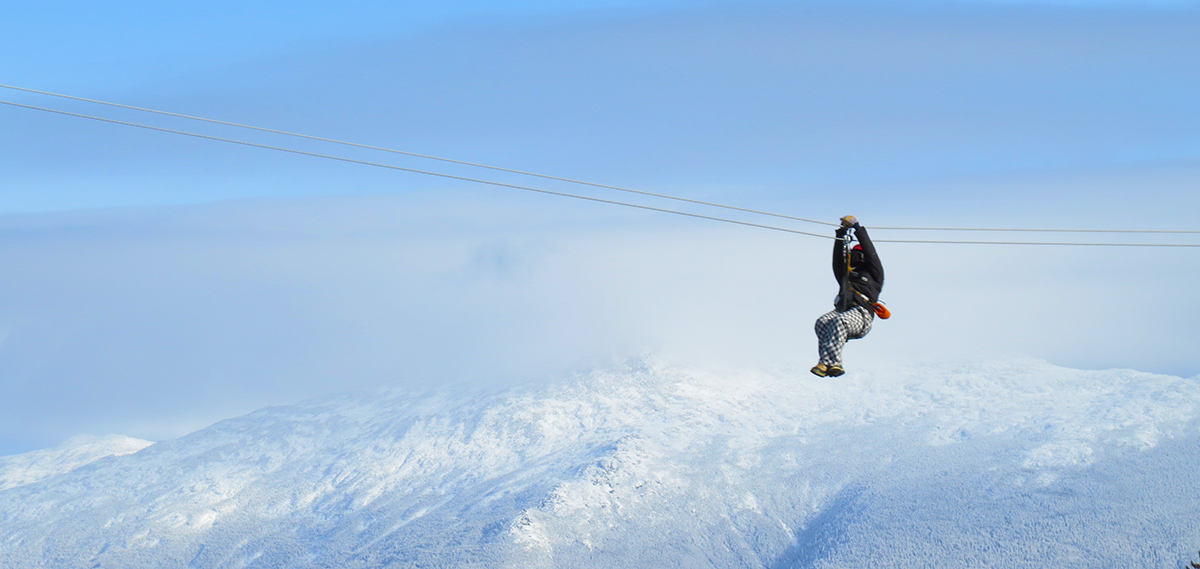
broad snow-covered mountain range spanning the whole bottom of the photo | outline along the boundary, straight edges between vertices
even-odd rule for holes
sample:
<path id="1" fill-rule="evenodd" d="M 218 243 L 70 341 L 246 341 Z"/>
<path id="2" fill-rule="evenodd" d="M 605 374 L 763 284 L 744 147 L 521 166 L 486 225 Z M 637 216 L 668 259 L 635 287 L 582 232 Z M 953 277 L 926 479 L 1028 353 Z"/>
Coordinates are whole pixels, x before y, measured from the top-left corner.
<path id="1" fill-rule="evenodd" d="M 0 565 L 1175 568 L 1198 414 L 1198 378 L 1032 360 L 342 396 L 2 459 Z"/>

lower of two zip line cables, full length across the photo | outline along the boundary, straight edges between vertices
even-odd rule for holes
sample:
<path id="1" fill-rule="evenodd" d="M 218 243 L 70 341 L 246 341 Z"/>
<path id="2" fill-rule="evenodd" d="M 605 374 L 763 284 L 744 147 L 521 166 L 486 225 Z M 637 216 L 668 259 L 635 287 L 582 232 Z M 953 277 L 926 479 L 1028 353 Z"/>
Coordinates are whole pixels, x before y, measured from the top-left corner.
<path id="1" fill-rule="evenodd" d="M 348 157 L 344 157 L 344 156 L 335 156 L 335 155 L 328 155 L 328 154 L 310 152 L 310 151 L 305 151 L 305 150 L 296 150 L 296 149 L 290 149 L 290 148 L 284 148 L 284 146 L 272 146 L 272 145 L 269 145 L 269 144 L 259 144 L 259 143 L 252 143 L 252 142 L 247 142 L 247 140 L 238 140 L 238 139 L 234 139 L 234 138 L 222 138 L 222 137 L 215 137 L 215 136 L 209 136 L 209 134 L 200 134 L 200 133 L 196 133 L 196 132 L 179 131 L 179 130 L 173 130 L 173 128 L 163 128 L 163 127 L 158 127 L 158 126 L 150 126 L 150 125 L 143 125 L 143 124 L 138 124 L 138 122 L 128 122 L 128 121 L 122 121 L 122 120 L 107 119 L 107 118 L 102 118 L 102 116 L 92 116 L 92 115 L 86 115 L 86 114 L 80 114 L 80 113 L 71 113 L 71 112 L 67 112 L 67 110 L 52 109 L 52 108 L 46 108 L 46 107 L 36 107 L 36 106 L 32 106 L 32 104 L 23 104 L 23 103 L 17 103 L 17 102 L 11 102 L 11 101 L 2 101 L 2 100 L 0 100 L 0 104 L 7 104 L 7 106 L 11 106 L 11 107 L 19 107 L 19 108 L 25 108 L 25 109 L 31 109 L 31 110 L 42 110 L 42 112 L 46 112 L 46 113 L 53 113 L 53 114 L 59 114 L 59 115 L 65 115 L 65 116 L 74 116 L 74 118 L 79 118 L 79 119 L 96 120 L 96 121 L 109 122 L 109 124 L 114 124 L 114 125 L 132 126 L 132 127 L 137 127 L 137 128 L 144 128 L 144 130 L 157 131 L 157 132 L 166 132 L 166 133 L 170 133 L 170 134 L 181 134 L 181 136 L 187 136 L 187 137 L 193 137 L 193 138 L 203 138 L 203 139 L 206 139 L 206 140 L 216 140 L 216 142 L 223 142 L 223 143 L 229 143 L 229 144 L 240 144 L 240 145 L 244 145 L 244 146 L 252 146 L 252 148 L 260 148 L 260 149 L 266 149 L 266 150 L 275 150 L 275 151 L 280 151 L 280 152 L 296 154 L 296 155 L 301 155 L 301 156 L 312 156 L 312 157 L 318 157 L 318 158 L 336 160 L 336 161 L 340 161 L 340 162 L 348 162 L 348 163 L 355 163 L 355 164 L 362 164 L 362 166 L 373 166 L 373 167 L 378 167 L 378 168 L 388 168 L 388 169 L 392 169 L 392 170 L 409 172 L 409 173 L 414 173 L 414 174 L 425 174 L 425 175 L 432 175 L 432 176 L 438 176 L 438 178 L 446 178 L 446 179 L 451 179 L 451 180 L 469 181 L 469 182 L 474 182 L 474 184 L 485 184 L 485 185 L 490 185 L 490 186 L 508 187 L 508 188 L 512 188 L 512 190 L 523 190 L 523 191 L 528 191 L 528 192 L 538 192 L 538 193 L 545 193 L 545 194 L 550 194 L 550 196 L 560 196 L 560 197 L 566 197 L 566 198 L 586 199 L 586 200 L 589 200 L 589 202 L 606 203 L 606 204 L 612 204 L 612 205 L 624 205 L 626 208 L 636 208 L 636 209 L 649 210 L 649 211 L 660 211 L 660 212 L 664 212 L 664 214 L 674 214 L 674 215 L 682 215 L 682 216 L 695 217 L 695 218 L 701 218 L 701 220 L 720 221 L 720 222 L 725 222 L 725 223 L 734 223 L 734 224 L 746 226 L 746 227 L 757 227 L 757 228 L 761 228 L 761 229 L 770 229 L 770 230 L 784 232 L 784 233 L 793 233 L 793 234 L 797 234 L 797 235 L 808 235 L 808 236 L 815 236 L 815 238 L 822 238 L 822 239 L 836 239 L 836 238 L 832 238 L 829 235 L 823 235 L 823 234 L 820 234 L 820 233 L 802 232 L 802 230 L 797 230 L 797 229 L 788 229 L 788 228 L 785 228 L 785 227 L 767 226 L 767 224 L 762 224 L 762 223 L 751 223 L 751 222 L 746 222 L 746 221 L 730 220 L 730 218 L 726 218 L 726 217 L 716 217 L 716 216 L 709 216 L 709 215 L 692 214 L 692 212 L 688 212 L 688 211 L 678 211 L 678 210 L 672 210 L 672 209 L 666 209 L 666 208 L 655 208 L 655 206 L 650 206 L 650 205 L 634 204 L 634 203 L 628 203 L 628 202 L 618 202 L 618 200 L 613 200 L 613 199 L 595 198 L 595 197 L 590 197 L 590 196 L 580 196 L 580 194 L 575 194 L 575 193 L 557 192 L 557 191 L 552 191 L 552 190 L 544 190 L 544 188 L 530 187 L 530 186 L 520 186 L 520 185 L 516 185 L 516 184 L 505 184 L 505 182 L 499 182 L 499 181 L 493 181 L 493 180 L 484 180 L 484 179 L 479 179 L 479 178 L 468 178 L 468 176 L 461 176 L 461 175 L 454 175 L 454 174 L 445 174 L 445 173 L 440 173 L 440 172 L 430 172 L 430 170 L 421 170 L 421 169 L 415 169 L 415 168 L 406 168 L 406 167 L 401 167 L 401 166 L 384 164 L 384 163 L 380 163 L 380 162 L 368 162 L 368 161 L 365 161 L 365 160 L 348 158 Z M 641 192 L 638 192 L 638 193 L 641 193 Z M 820 223 L 823 223 L 823 224 L 834 224 L 834 223 L 828 223 L 828 222 L 820 222 Z M 892 228 L 892 229 L 895 229 L 895 228 Z M 877 242 L 901 242 L 901 244 L 941 244 L 941 245 L 1039 245 L 1039 246 L 1091 246 L 1091 247 L 1196 247 L 1196 248 L 1200 248 L 1200 244 L 1061 242 L 1061 241 L 954 241 L 954 240 L 912 240 L 912 239 L 875 239 L 875 241 L 877 241 Z"/>

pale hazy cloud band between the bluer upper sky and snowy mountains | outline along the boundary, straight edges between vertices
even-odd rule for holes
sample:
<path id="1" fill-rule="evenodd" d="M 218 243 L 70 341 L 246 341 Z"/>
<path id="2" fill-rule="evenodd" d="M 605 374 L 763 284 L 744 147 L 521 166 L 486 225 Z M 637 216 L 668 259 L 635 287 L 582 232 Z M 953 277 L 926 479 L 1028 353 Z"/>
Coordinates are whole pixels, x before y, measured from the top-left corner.
<path id="1" fill-rule="evenodd" d="M 0 447 L 161 439 L 329 391 L 498 387 L 647 351 L 803 372 L 835 292 L 828 248 L 470 191 L 7 217 Z M 1169 309 L 1196 276 L 1177 251 L 882 250 L 896 316 L 848 365 L 1196 372 Z"/>

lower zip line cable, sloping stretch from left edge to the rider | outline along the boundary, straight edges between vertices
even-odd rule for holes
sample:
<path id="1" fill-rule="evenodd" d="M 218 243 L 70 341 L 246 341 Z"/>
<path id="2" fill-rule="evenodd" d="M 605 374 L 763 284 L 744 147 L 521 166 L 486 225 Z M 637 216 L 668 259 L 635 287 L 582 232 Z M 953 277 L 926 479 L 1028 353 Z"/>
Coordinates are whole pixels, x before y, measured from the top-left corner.
<path id="1" fill-rule="evenodd" d="M 347 158 L 344 156 L 334 156 L 334 155 L 329 155 L 329 154 L 308 152 L 308 151 L 305 151 L 305 150 L 296 150 L 296 149 L 283 148 L 283 146 L 271 146 L 271 145 L 268 145 L 268 144 L 258 144 L 258 143 L 252 143 L 252 142 L 246 142 L 246 140 L 236 140 L 236 139 L 233 139 L 233 138 L 221 138 L 221 137 L 214 137 L 214 136 L 209 136 L 209 134 L 199 134 L 199 133 L 196 133 L 196 132 L 176 131 L 176 130 L 172 130 L 172 128 L 162 128 L 162 127 L 158 127 L 158 126 L 140 125 L 140 124 L 137 124 L 137 122 L 126 122 L 126 121 L 122 121 L 122 120 L 106 119 L 106 118 L 102 118 L 102 116 L 91 116 L 91 115 L 79 114 L 79 113 L 68 113 L 66 110 L 49 109 L 49 108 L 44 108 L 44 107 L 35 107 L 32 104 L 14 103 L 14 102 L 11 102 L 11 101 L 0 101 L 0 104 L 8 104 L 8 106 L 12 106 L 12 107 L 22 107 L 22 108 L 34 109 L 34 110 L 44 110 L 47 113 L 55 113 L 55 114 L 61 114 L 61 115 L 66 115 L 66 116 L 76 116 L 76 118 L 80 118 L 80 119 L 98 120 L 98 121 L 102 121 L 102 122 L 112 122 L 114 125 L 133 126 L 133 127 L 138 127 L 138 128 L 145 128 L 145 130 L 158 131 L 158 132 L 167 132 L 167 133 L 172 133 L 172 134 L 182 134 L 182 136 L 187 136 L 187 137 L 204 138 L 204 139 L 208 139 L 208 140 L 216 140 L 216 142 L 223 142 L 223 143 L 230 143 L 230 144 L 241 144 L 244 146 L 262 148 L 262 149 L 266 149 L 266 150 L 276 150 L 276 151 L 280 151 L 280 152 L 290 152 L 290 154 L 299 154 L 299 155 L 302 155 L 302 156 L 313 156 L 313 157 L 318 157 L 318 158 L 337 160 L 337 161 L 341 161 L 341 162 L 349 162 L 349 163 L 354 163 L 354 164 L 374 166 L 374 167 L 378 167 L 378 168 L 388 168 L 388 169 L 401 170 L 401 172 L 412 172 L 414 174 L 426 174 L 426 175 L 433 175 L 433 176 L 439 176 L 439 178 L 449 178 L 451 180 L 462 180 L 462 181 L 470 181 L 470 182 L 475 182 L 475 184 L 486 184 L 486 185 L 490 185 L 490 186 L 510 187 L 510 188 L 514 188 L 514 190 L 524 190 L 524 191 L 528 191 L 528 192 L 548 193 L 551 196 L 562 196 L 562 197 L 566 197 L 566 198 L 587 199 L 589 202 L 599 202 L 599 203 L 606 203 L 606 204 L 613 204 L 613 205 L 624 205 L 626 208 L 637 208 L 637 209 L 644 209 L 644 210 L 650 210 L 650 211 L 661 211 L 664 214 L 684 215 L 684 216 L 688 216 L 688 217 L 697 217 L 697 218 L 701 218 L 701 220 L 722 221 L 722 222 L 726 222 L 726 223 L 737 223 L 739 226 L 758 227 L 758 228 L 762 228 L 762 229 L 772 229 L 772 230 L 776 230 L 776 232 L 796 233 L 796 234 L 799 234 L 799 235 L 811 235 L 811 236 L 824 238 L 824 239 L 834 239 L 834 238 L 832 238 L 829 235 L 822 235 L 820 233 L 800 232 L 800 230 L 796 230 L 796 229 L 787 229 L 787 228 L 784 228 L 784 227 L 764 226 L 764 224 L 761 224 L 761 223 L 750 223 L 750 222 L 746 222 L 746 221 L 727 220 L 725 217 L 714 217 L 714 216 L 709 216 L 709 215 L 690 214 L 690 212 L 686 212 L 686 211 L 677 211 L 677 210 L 673 210 L 673 209 L 654 208 L 654 206 L 650 206 L 650 205 L 641 205 L 641 204 L 631 204 L 631 203 L 628 203 L 628 202 L 617 202 L 617 200 L 613 200 L 613 199 L 594 198 L 594 197 L 590 197 L 590 196 L 580 196 L 580 194 L 576 194 L 576 193 L 556 192 L 556 191 L 552 191 L 552 190 L 542 190 L 542 188 L 529 187 L 529 186 L 518 186 L 516 184 L 504 184 L 504 182 L 500 182 L 500 181 L 492 181 L 492 180 L 481 180 L 481 179 L 478 179 L 478 178 L 467 178 L 467 176 L 454 175 L 454 174 L 444 174 L 444 173 L 440 173 L 440 172 L 419 170 L 419 169 L 415 169 L 415 168 L 404 168 L 404 167 L 401 167 L 401 166 L 384 164 L 384 163 L 379 163 L 379 162 L 367 162 L 365 160 Z M 1200 245 L 1196 245 L 1196 246 L 1200 247 Z"/>

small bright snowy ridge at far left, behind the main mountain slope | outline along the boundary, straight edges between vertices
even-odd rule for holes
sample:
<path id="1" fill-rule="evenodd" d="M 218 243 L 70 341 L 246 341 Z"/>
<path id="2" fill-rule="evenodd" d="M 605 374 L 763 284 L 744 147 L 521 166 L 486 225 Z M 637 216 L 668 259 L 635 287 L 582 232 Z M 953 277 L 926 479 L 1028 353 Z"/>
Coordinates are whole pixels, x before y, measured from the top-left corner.
<path id="1" fill-rule="evenodd" d="M 0 456 L 0 490 L 32 484 L 50 477 L 71 472 L 107 456 L 125 456 L 149 445 L 150 441 L 109 435 L 92 437 L 80 435 L 44 450 L 35 450 L 16 456 Z"/>

